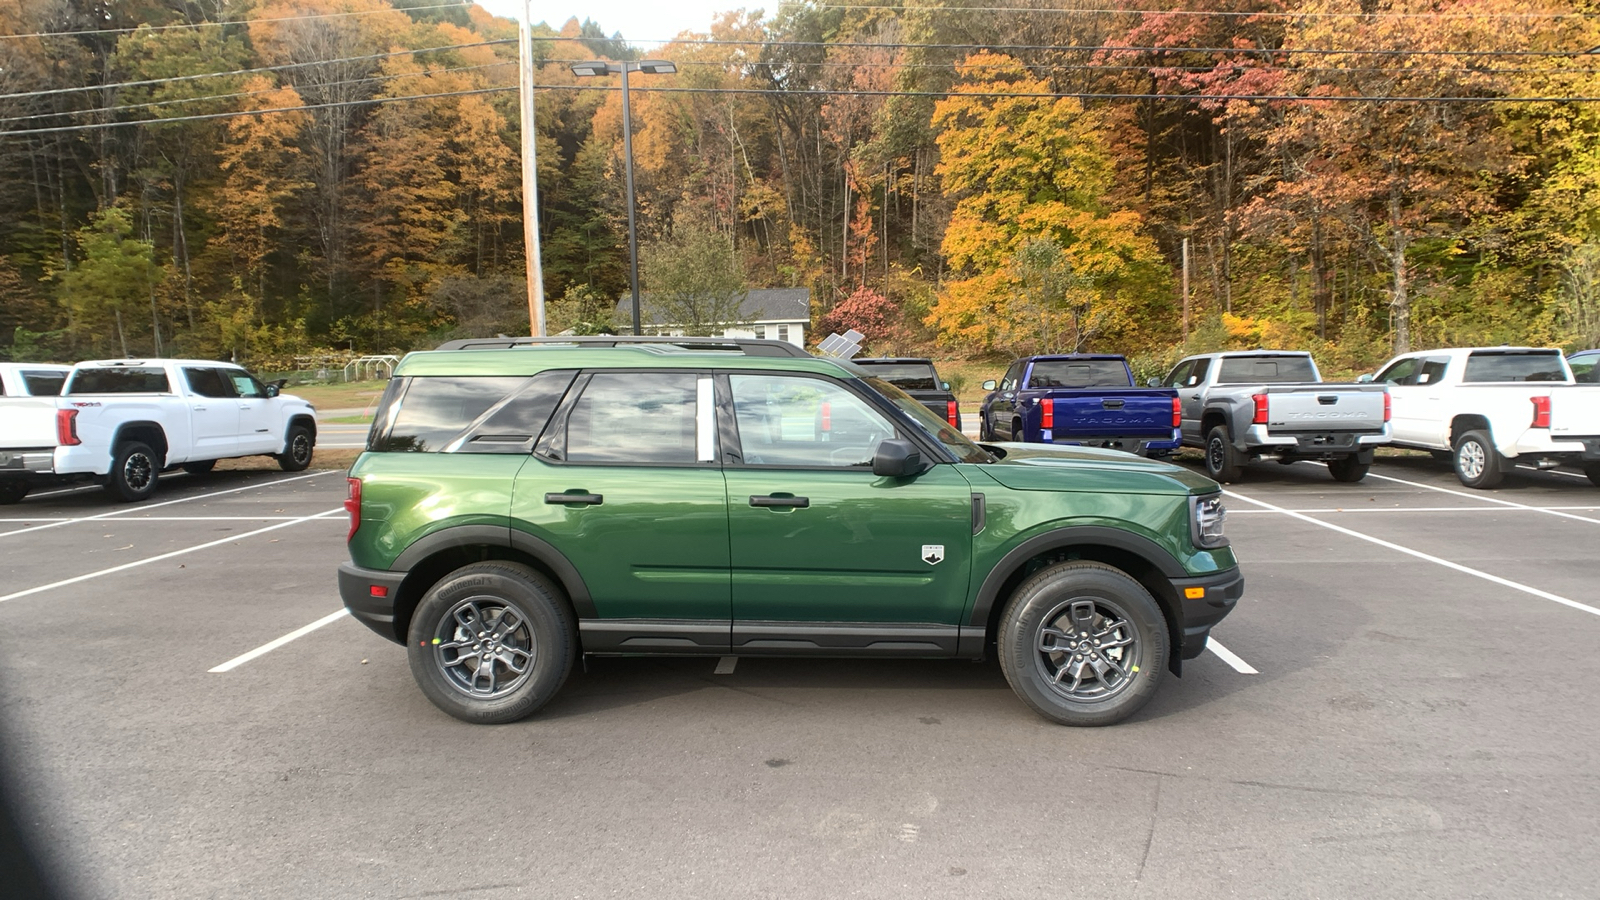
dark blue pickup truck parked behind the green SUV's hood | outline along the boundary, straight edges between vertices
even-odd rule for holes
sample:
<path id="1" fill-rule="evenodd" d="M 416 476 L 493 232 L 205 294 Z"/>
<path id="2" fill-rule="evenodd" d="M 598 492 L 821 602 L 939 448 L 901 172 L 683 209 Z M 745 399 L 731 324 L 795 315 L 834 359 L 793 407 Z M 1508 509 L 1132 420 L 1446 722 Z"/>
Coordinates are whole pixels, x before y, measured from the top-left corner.
<path id="1" fill-rule="evenodd" d="M 1141 456 L 1182 445 L 1173 388 L 1136 388 L 1128 360 L 1109 354 L 1030 356 L 998 384 L 984 381 L 981 440 L 1078 444 Z"/>

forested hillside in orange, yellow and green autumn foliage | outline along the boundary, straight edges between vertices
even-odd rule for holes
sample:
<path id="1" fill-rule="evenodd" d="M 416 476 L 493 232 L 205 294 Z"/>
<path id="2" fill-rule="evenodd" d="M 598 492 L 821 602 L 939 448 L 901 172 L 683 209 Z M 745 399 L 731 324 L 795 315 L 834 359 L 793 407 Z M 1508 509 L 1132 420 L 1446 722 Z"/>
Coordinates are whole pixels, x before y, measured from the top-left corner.
<path id="1" fill-rule="evenodd" d="M 630 82 L 643 288 L 725 267 L 811 288 L 875 351 L 1154 365 L 1186 338 L 1187 242 L 1190 348 L 1595 346 L 1595 11 L 730 13 Z M 603 325 L 621 94 L 570 64 L 635 35 L 534 35 L 552 320 Z M 525 333 L 515 37 L 445 0 L 0 0 L 0 357 L 280 368 Z"/>

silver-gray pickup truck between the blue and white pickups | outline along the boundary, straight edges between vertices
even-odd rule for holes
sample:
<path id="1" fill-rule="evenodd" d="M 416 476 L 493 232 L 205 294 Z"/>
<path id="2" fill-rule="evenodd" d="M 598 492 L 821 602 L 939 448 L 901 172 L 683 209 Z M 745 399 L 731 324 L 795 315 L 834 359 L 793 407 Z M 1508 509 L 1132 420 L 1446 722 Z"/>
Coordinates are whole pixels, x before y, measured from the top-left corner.
<path id="1" fill-rule="evenodd" d="M 1163 384 L 1178 389 L 1184 447 L 1203 448 L 1219 482 L 1237 482 L 1256 456 L 1323 460 L 1334 480 L 1358 482 L 1389 442 L 1387 386 L 1323 383 L 1307 352 L 1192 356 Z"/>

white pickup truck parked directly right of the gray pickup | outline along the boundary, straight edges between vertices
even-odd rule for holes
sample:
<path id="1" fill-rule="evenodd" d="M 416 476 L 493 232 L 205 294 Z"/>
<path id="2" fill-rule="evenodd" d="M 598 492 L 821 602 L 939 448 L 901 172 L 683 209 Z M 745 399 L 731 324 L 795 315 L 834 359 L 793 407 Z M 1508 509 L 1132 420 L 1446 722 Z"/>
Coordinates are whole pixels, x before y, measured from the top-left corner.
<path id="1" fill-rule="evenodd" d="M 1600 386 L 1574 383 L 1562 351 L 1421 351 L 1362 378 L 1389 384 L 1394 445 L 1451 460 L 1467 487 L 1518 463 L 1579 466 L 1600 485 Z"/>

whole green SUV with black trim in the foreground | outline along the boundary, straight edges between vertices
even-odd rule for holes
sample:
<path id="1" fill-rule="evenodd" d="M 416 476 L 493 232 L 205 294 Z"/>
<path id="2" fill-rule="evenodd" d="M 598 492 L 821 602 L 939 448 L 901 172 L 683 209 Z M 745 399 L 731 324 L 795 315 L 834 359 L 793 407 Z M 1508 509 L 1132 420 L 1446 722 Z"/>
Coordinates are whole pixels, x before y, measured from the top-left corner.
<path id="1" fill-rule="evenodd" d="M 349 472 L 350 613 L 469 722 L 581 653 L 995 655 L 1117 722 L 1238 601 L 1218 485 L 984 447 L 850 364 L 664 344 L 405 357 Z"/>

